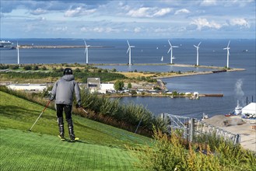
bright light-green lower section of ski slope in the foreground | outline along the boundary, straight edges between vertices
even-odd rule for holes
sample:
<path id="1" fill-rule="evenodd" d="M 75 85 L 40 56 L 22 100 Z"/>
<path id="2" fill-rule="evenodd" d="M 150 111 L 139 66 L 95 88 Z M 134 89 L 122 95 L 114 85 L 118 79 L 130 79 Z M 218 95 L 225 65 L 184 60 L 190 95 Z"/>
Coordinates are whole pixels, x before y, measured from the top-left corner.
<path id="1" fill-rule="evenodd" d="M 58 137 L 1 129 L 1 170 L 131 170 L 135 159 L 123 148 L 66 142 Z"/>

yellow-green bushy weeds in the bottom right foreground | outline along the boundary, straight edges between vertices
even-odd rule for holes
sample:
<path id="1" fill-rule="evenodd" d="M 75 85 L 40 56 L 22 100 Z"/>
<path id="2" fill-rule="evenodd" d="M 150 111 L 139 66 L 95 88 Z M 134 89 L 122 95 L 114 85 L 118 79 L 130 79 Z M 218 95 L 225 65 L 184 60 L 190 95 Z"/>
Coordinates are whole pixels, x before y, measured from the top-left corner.
<path id="1" fill-rule="evenodd" d="M 172 131 L 171 136 L 153 129 L 153 146 L 146 146 L 135 152 L 138 165 L 146 170 L 256 170 L 254 152 L 244 150 L 240 145 L 219 141 L 214 148 L 184 141 L 181 134 Z M 215 138 L 213 138 L 215 139 Z"/>

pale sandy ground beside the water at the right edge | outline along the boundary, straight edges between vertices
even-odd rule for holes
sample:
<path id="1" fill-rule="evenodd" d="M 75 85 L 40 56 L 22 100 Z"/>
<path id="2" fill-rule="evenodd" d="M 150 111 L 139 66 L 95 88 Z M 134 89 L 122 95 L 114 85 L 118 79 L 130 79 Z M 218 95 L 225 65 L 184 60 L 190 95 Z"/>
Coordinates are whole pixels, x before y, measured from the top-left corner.
<path id="1" fill-rule="evenodd" d="M 242 120 L 240 116 L 217 115 L 204 121 L 234 134 L 240 134 L 240 145 L 256 152 L 256 130 L 251 128 L 254 123 L 256 124 L 256 120 Z M 227 124 L 224 124 L 224 121 Z"/>

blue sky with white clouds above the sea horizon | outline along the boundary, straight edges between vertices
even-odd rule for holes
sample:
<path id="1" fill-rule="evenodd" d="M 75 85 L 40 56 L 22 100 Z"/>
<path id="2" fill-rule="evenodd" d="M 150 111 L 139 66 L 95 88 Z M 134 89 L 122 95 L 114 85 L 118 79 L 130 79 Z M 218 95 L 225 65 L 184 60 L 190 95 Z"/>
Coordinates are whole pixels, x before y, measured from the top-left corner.
<path id="1" fill-rule="evenodd" d="M 0 2 L 1 39 L 255 39 L 255 0 Z"/>

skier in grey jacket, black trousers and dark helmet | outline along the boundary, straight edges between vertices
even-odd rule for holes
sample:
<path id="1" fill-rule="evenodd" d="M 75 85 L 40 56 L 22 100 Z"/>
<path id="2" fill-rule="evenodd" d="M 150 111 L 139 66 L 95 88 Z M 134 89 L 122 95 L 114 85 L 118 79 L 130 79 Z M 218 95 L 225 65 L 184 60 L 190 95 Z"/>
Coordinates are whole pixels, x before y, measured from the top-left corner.
<path id="1" fill-rule="evenodd" d="M 51 90 L 50 100 L 55 99 L 58 117 L 58 129 L 59 135 L 62 141 L 64 137 L 64 123 L 63 123 L 63 110 L 65 111 L 65 119 L 68 122 L 68 133 L 70 141 L 75 141 L 79 138 L 75 138 L 73 121 L 72 121 L 72 103 L 73 93 L 75 92 L 75 98 L 77 106 L 81 107 L 81 96 L 75 77 L 72 75 L 71 68 L 65 68 L 63 76 L 57 82 L 54 83 L 54 87 Z"/>

